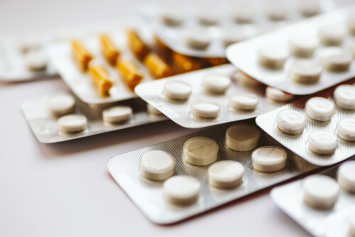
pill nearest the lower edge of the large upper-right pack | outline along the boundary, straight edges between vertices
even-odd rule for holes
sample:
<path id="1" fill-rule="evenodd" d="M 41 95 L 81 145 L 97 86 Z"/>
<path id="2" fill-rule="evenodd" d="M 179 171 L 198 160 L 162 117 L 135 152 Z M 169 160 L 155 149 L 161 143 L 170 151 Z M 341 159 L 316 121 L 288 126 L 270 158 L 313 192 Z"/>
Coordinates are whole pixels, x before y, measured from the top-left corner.
<path id="1" fill-rule="evenodd" d="M 294 82 L 312 84 L 320 80 L 322 65 L 315 60 L 295 60 L 290 67 L 290 77 Z"/>

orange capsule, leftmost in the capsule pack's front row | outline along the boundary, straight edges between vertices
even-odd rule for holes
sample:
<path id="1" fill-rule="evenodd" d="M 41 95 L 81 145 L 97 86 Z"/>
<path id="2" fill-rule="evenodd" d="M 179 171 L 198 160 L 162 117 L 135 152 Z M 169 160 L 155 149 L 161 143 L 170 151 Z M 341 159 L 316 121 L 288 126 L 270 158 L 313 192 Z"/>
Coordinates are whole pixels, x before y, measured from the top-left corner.
<path id="1" fill-rule="evenodd" d="M 109 96 L 109 90 L 114 85 L 109 77 L 109 72 L 102 65 L 94 65 L 89 67 L 89 74 L 94 81 L 97 91 L 100 95 Z"/>

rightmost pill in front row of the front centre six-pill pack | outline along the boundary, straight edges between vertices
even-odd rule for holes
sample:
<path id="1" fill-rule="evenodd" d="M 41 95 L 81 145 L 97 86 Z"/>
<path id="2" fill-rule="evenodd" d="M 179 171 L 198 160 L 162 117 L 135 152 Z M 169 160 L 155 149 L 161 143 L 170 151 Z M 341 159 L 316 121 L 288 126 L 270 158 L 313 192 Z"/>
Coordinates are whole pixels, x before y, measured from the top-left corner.
<path id="1" fill-rule="evenodd" d="M 276 172 L 286 166 L 288 154 L 278 146 L 263 146 L 251 153 L 253 169 L 260 172 Z"/>

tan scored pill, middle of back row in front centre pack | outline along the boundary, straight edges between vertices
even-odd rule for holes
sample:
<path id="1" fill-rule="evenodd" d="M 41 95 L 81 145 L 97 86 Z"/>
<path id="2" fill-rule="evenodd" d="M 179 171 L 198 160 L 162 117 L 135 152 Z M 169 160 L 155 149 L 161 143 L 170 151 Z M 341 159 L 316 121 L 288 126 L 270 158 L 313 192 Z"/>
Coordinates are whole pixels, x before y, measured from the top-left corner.
<path id="1" fill-rule="evenodd" d="M 218 145 L 211 138 L 190 138 L 184 144 L 182 159 L 190 165 L 210 165 L 217 160 Z"/>

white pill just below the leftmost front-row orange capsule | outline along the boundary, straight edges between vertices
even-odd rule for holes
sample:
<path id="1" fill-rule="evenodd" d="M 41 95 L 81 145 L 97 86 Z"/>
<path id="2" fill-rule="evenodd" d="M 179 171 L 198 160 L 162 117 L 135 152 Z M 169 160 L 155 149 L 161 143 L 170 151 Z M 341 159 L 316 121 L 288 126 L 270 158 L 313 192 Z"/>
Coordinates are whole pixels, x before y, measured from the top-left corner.
<path id="1" fill-rule="evenodd" d="M 130 106 L 113 106 L 102 111 L 102 120 L 105 123 L 122 123 L 128 121 L 132 114 Z"/>

